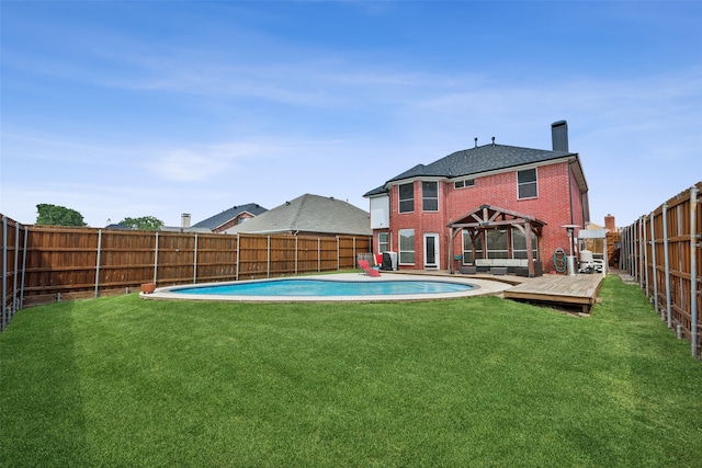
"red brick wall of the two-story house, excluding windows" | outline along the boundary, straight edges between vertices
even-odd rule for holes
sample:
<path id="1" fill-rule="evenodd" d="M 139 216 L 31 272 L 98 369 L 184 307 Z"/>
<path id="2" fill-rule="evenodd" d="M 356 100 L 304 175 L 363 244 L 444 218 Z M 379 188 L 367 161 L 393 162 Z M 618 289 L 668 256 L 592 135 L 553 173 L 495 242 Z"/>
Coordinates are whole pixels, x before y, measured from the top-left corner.
<path id="1" fill-rule="evenodd" d="M 517 172 L 500 173 L 475 179 L 475 185 L 454 189 L 453 182 L 439 183 L 439 212 L 422 210 L 421 182 L 415 181 L 415 210 L 398 213 L 398 187 L 390 192 L 390 246 L 399 251 L 399 230 L 415 229 L 415 265 L 403 269 L 423 269 L 423 233 L 440 235 L 441 269 L 448 269 L 449 235 L 446 225 L 480 205 L 521 213 L 546 222 L 543 229 L 543 250 L 539 253 L 544 263 L 544 272 L 554 269 L 553 254 L 556 248 L 569 252 L 568 235 L 561 226 L 576 224 L 584 226 L 582 198 L 568 163 L 543 165 L 536 169 L 537 196 L 517 198 Z M 573 206 L 571 206 L 573 205 Z M 377 238 L 375 238 L 377 242 Z M 375 243 L 377 246 L 377 243 Z M 454 252 L 463 253 L 463 238 L 454 239 Z"/>

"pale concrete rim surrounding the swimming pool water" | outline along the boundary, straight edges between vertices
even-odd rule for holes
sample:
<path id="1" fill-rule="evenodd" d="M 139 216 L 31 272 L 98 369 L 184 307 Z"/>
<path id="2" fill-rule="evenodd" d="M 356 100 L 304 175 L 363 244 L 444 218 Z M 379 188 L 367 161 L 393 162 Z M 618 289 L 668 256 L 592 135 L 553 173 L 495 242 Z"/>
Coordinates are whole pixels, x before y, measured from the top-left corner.
<path id="1" fill-rule="evenodd" d="M 324 279 L 324 281 L 343 281 L 343 282 L 387 282 L 387 281 L 435 281 L 444 283 L 467 284 L 473 289 L 460 293 L 431 293 L 431 294 L 397 294 L 397 295 L 373 295 L 373 296 L 241 296 L 241 295 L 199 295 L 174 293 L 174 289 L 194 286 L 224 286 L 244 283 L 264 283 L 281 279 Z M 435 299 L 456 299 L 472 296 L 500 295 L 511 285 L 502 282 L 462 277 L 462 276 L 429 276 L 427 274 L 394 274 L 392 272 L 383 272 L 380 277 L 371 277 L 360 273 L 339 273 L 329 275 L 307 275 L 294 277 L 278 277 L 267 279 L 227 282 L 227 283 L 208 283 L 197 285 L 179 285 L 159 287 L 154 293 L 141 293 L 144 299 L 163 299 L 163 300 L 210 300 L 210 301 L 235 301 L 235 303 L 387 303 L 403 300 L 435 300 Z"/>

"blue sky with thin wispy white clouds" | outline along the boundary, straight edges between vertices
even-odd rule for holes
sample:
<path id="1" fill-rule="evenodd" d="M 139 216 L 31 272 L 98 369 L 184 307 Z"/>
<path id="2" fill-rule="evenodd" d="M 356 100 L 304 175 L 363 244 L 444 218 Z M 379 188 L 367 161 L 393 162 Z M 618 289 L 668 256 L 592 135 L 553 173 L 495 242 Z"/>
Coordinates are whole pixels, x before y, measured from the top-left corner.
<path id="1" fill-rule="evenodd" d="M 0 213 L 180 226 L 568 122 L 590 218 L 702 181 L 700 1 L 0 0 Z"/>

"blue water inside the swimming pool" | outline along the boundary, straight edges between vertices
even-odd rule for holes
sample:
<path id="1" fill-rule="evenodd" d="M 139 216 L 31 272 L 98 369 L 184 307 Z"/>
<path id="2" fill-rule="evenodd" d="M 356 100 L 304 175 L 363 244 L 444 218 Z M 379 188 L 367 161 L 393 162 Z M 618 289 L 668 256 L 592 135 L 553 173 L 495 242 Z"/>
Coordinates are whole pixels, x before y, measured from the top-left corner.
<path id="1" fill-rule="evenodd" d="M 173 288 L 171 293 L 226 296 L 384 296 L 400 294 L 463 293 L 467 284 L 438 281 L 351 282 L 276 279 L 217 286 Z"/>

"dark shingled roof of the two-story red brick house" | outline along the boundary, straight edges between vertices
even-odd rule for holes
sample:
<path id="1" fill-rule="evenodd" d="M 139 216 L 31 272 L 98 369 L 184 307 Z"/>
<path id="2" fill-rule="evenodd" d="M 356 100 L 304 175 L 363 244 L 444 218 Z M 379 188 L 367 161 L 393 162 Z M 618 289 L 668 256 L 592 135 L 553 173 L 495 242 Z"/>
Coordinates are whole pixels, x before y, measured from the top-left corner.
<path id="1" fill-rule="evenodd" d="M 417 164 L 414 168 L 388 180 L 384 185 L 373 189 L 363 196 L 381 195 L 390 184 L 415 178 L 457 179 L 482 173 L 518 168 L 520 165 L 543 163 L 563 158 L 575 158 L 577 153 L 521 148 L 516 146 L 489 144 L 453 152 L 431 164 Z M 581 170 L 580 170 L 581 173 Z M 585 184 L 585 178 L 581 178 Z M 587 184 L 585 184 L 587 187 Z"/>

